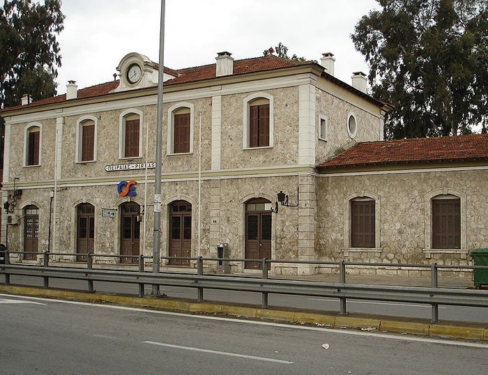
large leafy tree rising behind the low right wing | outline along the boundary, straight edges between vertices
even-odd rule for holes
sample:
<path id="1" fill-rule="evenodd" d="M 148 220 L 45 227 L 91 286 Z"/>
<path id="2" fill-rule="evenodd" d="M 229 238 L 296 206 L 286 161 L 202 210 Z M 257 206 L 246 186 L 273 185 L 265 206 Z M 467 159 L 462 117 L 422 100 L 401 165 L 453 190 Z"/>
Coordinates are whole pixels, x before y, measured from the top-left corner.
<path id="1" fill-rule="evenodd" d="M 469 134 L 488 125 L 486 0 L 377 0 L 351 38 L 372 95 L 395 108 L 385 137 Z"/>

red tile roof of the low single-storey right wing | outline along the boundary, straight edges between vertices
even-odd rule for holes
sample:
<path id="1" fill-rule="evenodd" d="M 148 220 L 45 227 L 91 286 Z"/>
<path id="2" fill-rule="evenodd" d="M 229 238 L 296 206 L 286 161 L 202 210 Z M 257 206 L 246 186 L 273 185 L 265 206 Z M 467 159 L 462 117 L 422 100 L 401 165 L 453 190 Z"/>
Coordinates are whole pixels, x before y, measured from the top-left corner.
<path id="1" fill-rule="evenodd" d="M 360 142 L 317 168 L 488 158 L 488 135 Z"/>

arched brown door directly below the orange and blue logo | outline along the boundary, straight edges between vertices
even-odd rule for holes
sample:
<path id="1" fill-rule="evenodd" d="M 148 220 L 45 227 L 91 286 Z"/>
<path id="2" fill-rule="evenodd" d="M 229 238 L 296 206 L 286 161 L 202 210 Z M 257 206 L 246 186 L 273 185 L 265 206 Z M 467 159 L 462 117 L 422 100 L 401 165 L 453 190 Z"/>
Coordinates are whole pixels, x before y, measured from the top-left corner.
<path id="1" fill-rule="evenodd" d="M 121 255 L 139 256 L 139 239 L 141 207 L 135 202 L 121 205 Z M 137 263 L 137 258 L 121 258 L 121 263 Z"/>

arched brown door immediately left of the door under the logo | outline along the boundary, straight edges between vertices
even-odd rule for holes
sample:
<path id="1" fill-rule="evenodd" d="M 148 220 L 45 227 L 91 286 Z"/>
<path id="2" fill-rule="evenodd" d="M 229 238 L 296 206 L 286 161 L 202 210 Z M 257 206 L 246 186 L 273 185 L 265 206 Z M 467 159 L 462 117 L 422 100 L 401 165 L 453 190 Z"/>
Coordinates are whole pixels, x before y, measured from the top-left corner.
<path id="1" fill-rule="evenodd" d="M 77 254 L 93 253 L 95 240 L 95 207 L 84 203 L 77 207 Z M 85 255 L 77 255 L 77 261 L 86 261 Z"/>

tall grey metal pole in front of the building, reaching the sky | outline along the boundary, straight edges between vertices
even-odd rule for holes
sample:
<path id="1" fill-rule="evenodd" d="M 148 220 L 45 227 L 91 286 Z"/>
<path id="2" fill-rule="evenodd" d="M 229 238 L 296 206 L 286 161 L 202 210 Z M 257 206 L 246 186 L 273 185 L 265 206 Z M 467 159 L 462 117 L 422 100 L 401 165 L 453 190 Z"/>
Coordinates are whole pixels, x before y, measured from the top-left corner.
<path id="1" fill-rule="evenodd" d="M 158 114 L 156 116 L 156 168 L 154 175 L 153 273 L 160 272 L 161 241 L 161 164 L 162 164 L 162 79 L 165 70 L 165 6 L 161 0 L 161 27 L 158 69 Z M 159 285 L 153 284 L 153 296 L 160 296 Z"/>

